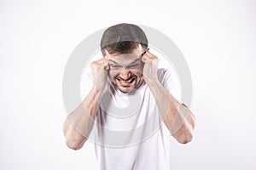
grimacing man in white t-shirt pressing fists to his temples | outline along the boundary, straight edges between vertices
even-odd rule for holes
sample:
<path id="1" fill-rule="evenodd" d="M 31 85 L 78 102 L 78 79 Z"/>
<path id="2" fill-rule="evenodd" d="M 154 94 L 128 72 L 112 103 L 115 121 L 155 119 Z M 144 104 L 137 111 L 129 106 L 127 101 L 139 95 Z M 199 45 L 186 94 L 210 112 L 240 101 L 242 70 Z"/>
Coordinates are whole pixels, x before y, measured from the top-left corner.
<path id="1" fill-rule="evenodd" d="M 79 150 L 94 136 L 100 169 L 170 169 L 170 135 L 186 144 L 195 127 L 174 73 L 158 68 L 135 25 L 109 27 L 101 50 L 90 65 L 90 91 L 64 122 L 67 146 Z"/>

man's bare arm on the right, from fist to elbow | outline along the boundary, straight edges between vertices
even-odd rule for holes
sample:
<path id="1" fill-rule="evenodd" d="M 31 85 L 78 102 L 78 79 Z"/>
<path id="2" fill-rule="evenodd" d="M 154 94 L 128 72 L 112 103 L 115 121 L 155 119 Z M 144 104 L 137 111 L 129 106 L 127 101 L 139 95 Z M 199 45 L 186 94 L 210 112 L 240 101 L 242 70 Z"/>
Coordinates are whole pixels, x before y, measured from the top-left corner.
<path id="1" fill-rule="evenodd" d="M 162 86 L 157 77 L 158 58 L 147 52 L 143 55 L 145 63 L 143 78 L 154 95 L 154 99 L 166 127 L 179 143 L 186 144 L 193 138 L 195 116 Z"/>

